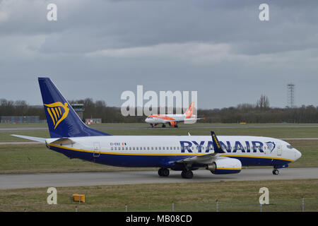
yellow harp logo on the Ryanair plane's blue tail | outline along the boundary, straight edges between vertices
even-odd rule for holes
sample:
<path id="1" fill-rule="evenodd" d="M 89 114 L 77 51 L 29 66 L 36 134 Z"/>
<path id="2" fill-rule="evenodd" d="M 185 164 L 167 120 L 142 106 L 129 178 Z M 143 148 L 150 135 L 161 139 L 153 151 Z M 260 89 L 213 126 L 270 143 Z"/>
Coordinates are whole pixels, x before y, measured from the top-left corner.
<path id="1" fill-rule="evenodd" d="M 51 117 L 54 129 L 63 121 L 69 114 L 69 105 L 65 102 L 64 105 L 61 102 L 55 102 L 53 104 L 45 105 L 47 107 L 47 112 Z"/>

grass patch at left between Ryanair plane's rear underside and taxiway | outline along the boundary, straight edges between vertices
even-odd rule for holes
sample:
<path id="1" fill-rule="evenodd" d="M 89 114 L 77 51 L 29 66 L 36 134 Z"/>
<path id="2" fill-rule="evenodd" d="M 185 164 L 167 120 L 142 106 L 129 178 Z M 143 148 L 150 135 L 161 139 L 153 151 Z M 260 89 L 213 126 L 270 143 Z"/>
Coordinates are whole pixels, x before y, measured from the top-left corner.
<path id="1" fill-rule="evenodd" d="M 47 149 L 44 144 L 0 145 L 0 160 L 1 174 L 131 170 L 131 168 L 112 167 L 78 159 L 69 159 L 65 155 Z"/>

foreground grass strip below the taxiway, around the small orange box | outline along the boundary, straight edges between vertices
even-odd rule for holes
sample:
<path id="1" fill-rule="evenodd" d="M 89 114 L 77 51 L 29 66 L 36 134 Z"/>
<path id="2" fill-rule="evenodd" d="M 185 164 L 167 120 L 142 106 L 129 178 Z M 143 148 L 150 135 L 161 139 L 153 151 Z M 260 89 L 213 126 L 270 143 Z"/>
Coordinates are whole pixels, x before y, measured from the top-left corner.
<path id="1" fill-rule="evenodd" d="M 47 204 L 47 188 L 4 189 L 0 211 L 259 211 L 259 189 L 269 189 L 265 211 L 318 210 L 318 179 L 204 182 L 185 184 L 131 184 L 58 187 L 57 205 Z M 213 192 L 211 192 L 213 191 Z M 71 203 L 71 194 L 85 194 L 86 203 Z"/>

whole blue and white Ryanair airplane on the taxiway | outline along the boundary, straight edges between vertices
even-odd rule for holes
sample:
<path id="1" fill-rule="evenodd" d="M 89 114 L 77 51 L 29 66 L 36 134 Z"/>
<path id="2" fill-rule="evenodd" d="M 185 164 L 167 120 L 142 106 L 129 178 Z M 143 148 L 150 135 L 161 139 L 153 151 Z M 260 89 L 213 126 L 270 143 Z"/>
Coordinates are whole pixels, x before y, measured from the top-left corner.
<path id="1" fill-rule="evenodd" d="M 13 135 L 40 141 L 70 158 L 118 167 L 159 167 L 182 178 L 205 167 L 213 174 L 236 174 L 242 166 L 271 166 L 273 174 L 301 157 L 289 143 L 260 136 L 111 136 L 83 124 L 49 78 L 38 78 L 51 138 Z"/>

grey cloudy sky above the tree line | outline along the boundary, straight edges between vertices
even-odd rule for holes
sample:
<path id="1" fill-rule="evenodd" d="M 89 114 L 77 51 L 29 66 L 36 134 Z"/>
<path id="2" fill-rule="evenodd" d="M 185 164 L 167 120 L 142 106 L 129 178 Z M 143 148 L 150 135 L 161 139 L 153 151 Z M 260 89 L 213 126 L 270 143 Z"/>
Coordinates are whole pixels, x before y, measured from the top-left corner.
<path id="1" fill-rule="evenodd" d="M 317 106 L 318 1 L 0 0 L 0 98 L 42 104 L 38 76 L 118 107 L 137 85 L 197 90 L 205 109 L 262 94 L 285 107 L 290 82 L 296 105 Z"/>

